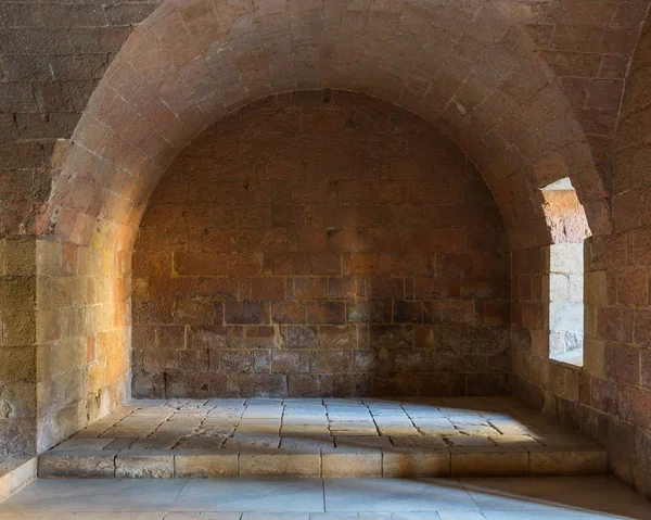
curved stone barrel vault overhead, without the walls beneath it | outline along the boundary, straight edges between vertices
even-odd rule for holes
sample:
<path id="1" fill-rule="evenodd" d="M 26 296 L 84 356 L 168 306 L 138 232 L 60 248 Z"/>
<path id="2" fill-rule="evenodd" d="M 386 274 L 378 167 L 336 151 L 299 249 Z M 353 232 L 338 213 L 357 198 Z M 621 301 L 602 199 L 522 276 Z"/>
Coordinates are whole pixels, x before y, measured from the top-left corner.
<path id="1" fill-rule="evenodd" d="M 138 27 L 62 154 L 37 231 L 130 248 L 166 167 L 255 99 L 355 90 L 442 128 L 477 165 L 514 249 L 549 243 L 538 188 L 571 177 L 595 233 L 605 190 L 579 124 L 507 4 L 168 1 Z"/>

